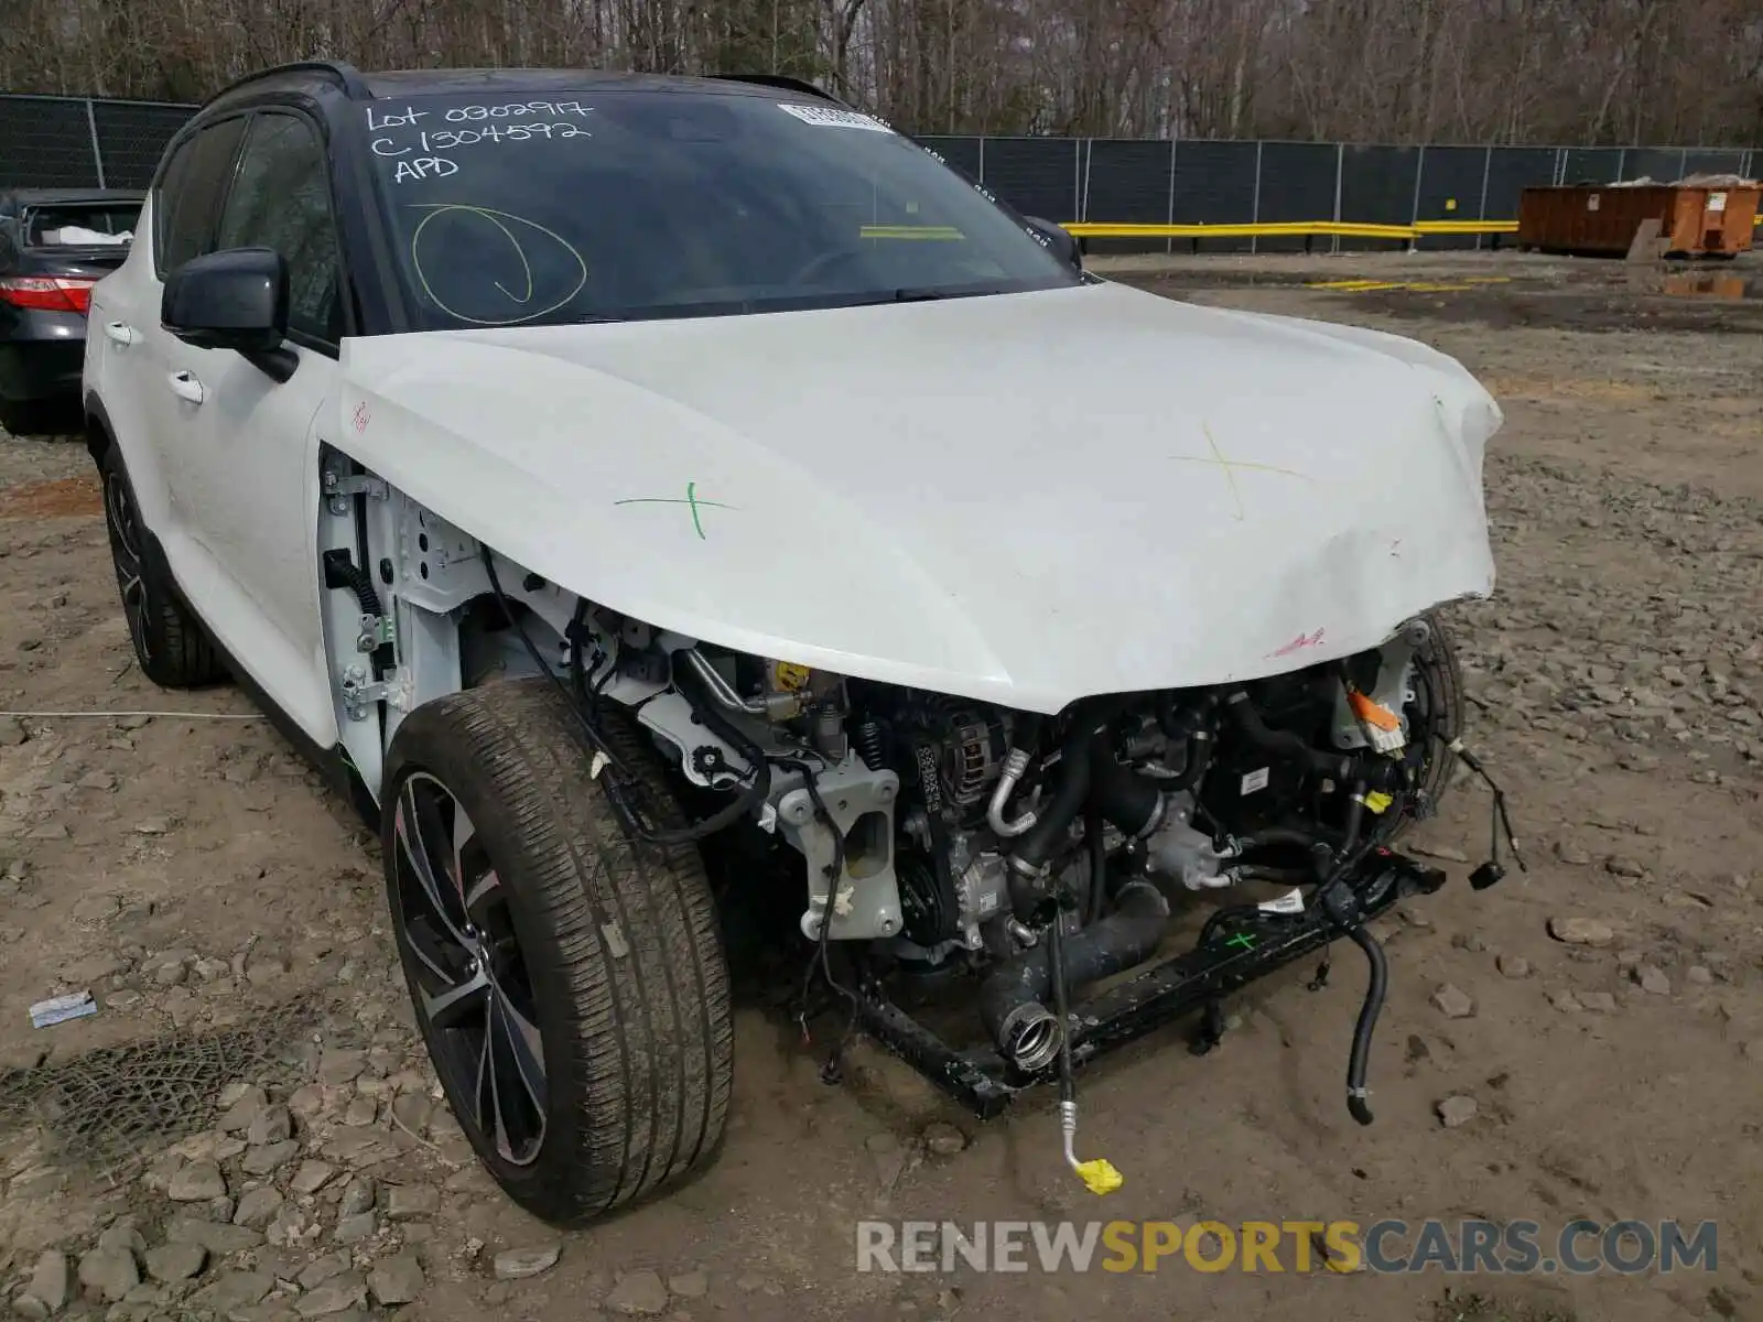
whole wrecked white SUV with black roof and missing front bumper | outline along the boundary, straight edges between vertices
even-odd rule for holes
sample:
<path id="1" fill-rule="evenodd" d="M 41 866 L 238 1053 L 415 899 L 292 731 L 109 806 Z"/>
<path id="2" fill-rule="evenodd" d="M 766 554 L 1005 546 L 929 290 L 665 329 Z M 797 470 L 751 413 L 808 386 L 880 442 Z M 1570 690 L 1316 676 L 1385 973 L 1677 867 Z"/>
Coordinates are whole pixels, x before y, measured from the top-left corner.
<path id="1" fill-rule="evenodd" d="M 92 307 L 141 665 L 240 675 L 381 827 L 532 1211 L 714 1149 L 719 925 L 779 894 L 980 1114 L 1058 1079 L 1075 1165 L 1075 1065 L 1352 940 L 1370 1118 L 1363 924 L 1442 880 L 1389 844 L 1462 751 L 1433 610 L 1493 582 L 1454 361 L 1100 282 L 776 79 L 247 79 Z"/>

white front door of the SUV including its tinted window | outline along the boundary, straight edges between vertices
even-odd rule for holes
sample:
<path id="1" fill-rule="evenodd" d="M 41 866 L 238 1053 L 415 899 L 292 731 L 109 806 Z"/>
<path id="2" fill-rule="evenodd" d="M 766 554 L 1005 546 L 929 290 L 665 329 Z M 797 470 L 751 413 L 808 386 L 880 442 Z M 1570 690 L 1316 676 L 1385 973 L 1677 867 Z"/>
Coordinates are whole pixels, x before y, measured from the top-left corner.
<path id="1" fill-rule="evenodd" d="M 335 414 L 342 338 L 338 233 L 324 141 L 294 111 L 250 116 L 213 250 L 266 247 L 287 263 L 282 382 L 226 349 L 164 337 L 173 566 L 217 640 L 316 742 L 337 740 L 319 613 L 319 427 Z M 330 409 L 326 405 L 331 404 Z"/>

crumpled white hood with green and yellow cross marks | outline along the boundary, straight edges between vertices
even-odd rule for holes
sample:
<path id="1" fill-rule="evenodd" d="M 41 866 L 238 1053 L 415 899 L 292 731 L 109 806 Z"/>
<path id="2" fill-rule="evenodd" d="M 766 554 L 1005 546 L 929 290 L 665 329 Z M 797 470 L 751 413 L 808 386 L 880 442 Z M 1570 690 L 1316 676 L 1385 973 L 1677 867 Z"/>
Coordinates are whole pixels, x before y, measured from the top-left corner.
<path id="1" fill-rule="evenodd" d="M 471 536 L 864 679 L 1056 712 L 1349 656 L 1493 587 L 1500 411 L 1377 331 L 1098 284 L 372 337 L 342 365 L 340 448 Z"/>

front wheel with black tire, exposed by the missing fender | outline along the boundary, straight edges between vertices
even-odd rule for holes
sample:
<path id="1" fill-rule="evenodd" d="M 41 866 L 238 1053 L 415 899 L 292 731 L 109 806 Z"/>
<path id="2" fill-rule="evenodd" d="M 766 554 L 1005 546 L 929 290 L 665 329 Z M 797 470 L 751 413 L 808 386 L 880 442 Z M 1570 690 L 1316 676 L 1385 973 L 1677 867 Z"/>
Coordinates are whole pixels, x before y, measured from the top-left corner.
<path id="1" fill-rule="evenodd" d="M 652 820 L 682 825 L 647 739 L 622 721 L 608 723 L 606 737 L 640 772 Z M 728 969 L 703 858 L 696 846 L 628 839 L 589 760 L 554 684 L 508 680 L 411 712 L 391 740 L 381 798 L 386 895 L 430 1059 L 483 1165 L 554 1225 L 594 1220 L 709 1163 L 733 1079 Z M 446 999 L 434 962 L 444 950 L 413 887 L 420 876 L 407 839 L 413 823 L 421 837 L 420 823 L 434 813 L 421 800 L 435 797 L 435 783 L 457 800 L 443 837 L 457 834 L 460 811 L 472 832 L 453 848 L 453 873 L 467 880 L 446 901 L 480 895 L 480 908 L 462 904 L 458 927 L 472 975 L 472 952 L 492 969 L 480 1036 L 464 1015 L 444 1024 L 427 1008 Z M 483 894 L 504 906 L 502 917 Z M 497 998 L 518 1017 L 497 1021 Z M 541 1088 L 522 1073 L 522 1035 L 510 1031 L 531 1026 Z M 492 1068 L 485 1095 L 485 1061 L 517 1073 Z M 483 1112 L 488 1125 L 480 1096 L 497 1098 L 497 1110 Z M 497 1123 L 504 1109 L 529 1128 L 538 1118 L 536 1142 L 527 1133 L 517 1149 L 517 1125 Z"/>

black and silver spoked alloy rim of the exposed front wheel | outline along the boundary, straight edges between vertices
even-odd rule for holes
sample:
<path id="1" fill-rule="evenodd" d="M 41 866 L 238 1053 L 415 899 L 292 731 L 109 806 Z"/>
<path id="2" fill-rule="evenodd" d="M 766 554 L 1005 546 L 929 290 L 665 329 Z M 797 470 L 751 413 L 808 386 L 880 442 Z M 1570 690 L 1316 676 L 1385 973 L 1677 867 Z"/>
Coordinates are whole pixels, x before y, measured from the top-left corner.
<path id="1" fill-rule="evenodd" d="M 413 955 L 416 1012 L 462 1121 L 511 1165 L 545 1144 L 545 1040 L 511 895 L 458 798 L 428 772 L 393 809 L 398 938 Z"/>

